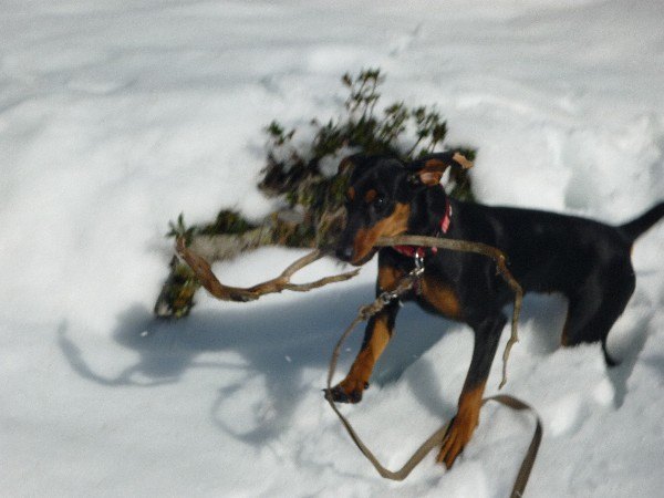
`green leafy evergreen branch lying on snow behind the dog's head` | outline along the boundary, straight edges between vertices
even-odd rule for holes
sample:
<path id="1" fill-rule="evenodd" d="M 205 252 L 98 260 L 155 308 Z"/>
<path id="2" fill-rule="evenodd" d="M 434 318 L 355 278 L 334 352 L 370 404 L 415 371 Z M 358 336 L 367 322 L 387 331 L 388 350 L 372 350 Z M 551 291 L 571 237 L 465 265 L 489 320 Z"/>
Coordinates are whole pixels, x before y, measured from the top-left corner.
<path id="1" fill-rule="evenodd" d="M 190 227 L 180 215 L 169 224 L 168 236 L 184 237 L 187 246 L 209 262 L 229 260 L 268 245 L 333 246 L 344 224 L 347 177 L 335 174 L 343 157 L 365 153 L 392 155 L 408 162 L 444 146 L 447 122 L 435 107 L 408 108 L 403 102 L 395 102 L 381 114 L 376 112 L 384 80 L 378 69 L 363 70 L 356 76 L 344 74 L 342 84 L 349 96 L 343 114 L 324 124 L 318 118 L 311 120 L 313 138 L 305 145 L 295 144 L 297 129 L 288 129 L 277 121 L 264 128 L 267 164 L 258 187 L 266 196 L 284 200 L 284 210 L 258 224 L 238 212 L 222 210 L 215 221 Z M 475 158 L 471 148 L 454 148 L 469 160 Z M 464 168 L 450 168 L 447 189 L 452 197 L 474 200 L 470 177 Z M 168 278 L 154 307 L 155 314 L 160 318 L 187 315 L 199 288 L 190 269 L 177 258 L 172 259 Z"/>

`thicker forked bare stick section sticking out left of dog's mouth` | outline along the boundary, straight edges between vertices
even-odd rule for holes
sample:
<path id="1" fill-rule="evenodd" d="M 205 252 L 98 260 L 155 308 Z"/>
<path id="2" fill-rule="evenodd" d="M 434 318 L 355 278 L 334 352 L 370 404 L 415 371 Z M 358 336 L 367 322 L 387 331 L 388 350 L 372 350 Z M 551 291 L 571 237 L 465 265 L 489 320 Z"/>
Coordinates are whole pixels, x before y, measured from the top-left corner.
<path id="1" fill-rule="evenodd" d="M 360 271 L 357 269 L 346 273 L 325 277 L 309 283 L 292 283 L 290 279 L 295 272 L 325 256 L 323 251 L 314 250 L 298 259 L 286 270 L 283 270 L 279 277 L 272 280 L 268 280 L 250 288 L 238 288 L 222 284 L 217 277 L 215 277 L 215 273 L 212 273 L 212 269 L 210 268 L 209 263 L 186 247 L 185 239 L 183 237 L 179 237 L 176 241 L 176 252 L 183 260 L 185 260 L 189 268 L 191 268 L 201 286 L 205 287 L 215 298 L 222 301 L 255 301 L 263 294 L 281 292 L 283 290 L 307 292 L 312 289 L 326 286 L 328 283 L 349 280 L 355 277 Z"/>

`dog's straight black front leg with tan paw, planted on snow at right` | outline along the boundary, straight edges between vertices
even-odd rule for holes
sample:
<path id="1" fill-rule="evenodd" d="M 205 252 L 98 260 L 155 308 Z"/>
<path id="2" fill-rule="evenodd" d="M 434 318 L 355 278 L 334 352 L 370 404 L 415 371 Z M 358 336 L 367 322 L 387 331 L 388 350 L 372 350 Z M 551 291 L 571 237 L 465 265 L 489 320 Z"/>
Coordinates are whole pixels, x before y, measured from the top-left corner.
<path id="1" fill-rule="evenodd" d="M 457 414 L 447 429 L 437 458 L 437 461 L 445 463 L 447 468 L 453 466 L 456 457 L 464 450 L 479 423 L 487 377 L 506 322 L 507 318 L 500 313 L 483 320 L 473 328 L 475 344 L 470 367 L 459 396 Z"/>

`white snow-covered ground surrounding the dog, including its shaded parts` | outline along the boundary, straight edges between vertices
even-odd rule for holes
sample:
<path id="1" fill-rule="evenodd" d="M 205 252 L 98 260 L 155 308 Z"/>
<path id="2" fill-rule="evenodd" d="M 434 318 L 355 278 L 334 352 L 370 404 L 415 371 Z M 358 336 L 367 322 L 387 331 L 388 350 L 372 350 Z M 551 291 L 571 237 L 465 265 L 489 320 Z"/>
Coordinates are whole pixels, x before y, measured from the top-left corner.
<path id="1" fill-rule="evenodd" d="M 664 198 L 660 1 L 361 6 L 3 2 L 1 496 L 507 495 L 528 416 L 487 406 L 450 471 L 432 455 L 394 484 L 324 403 L 331 349 L 372 297 L 372 263 L 305 295 L 201 293 L 187 320 L 151 315 L 167 221 L 267 212 L 261 127 L 333 116 L 341 74 L 363 66 L 387 74 L 385 104 L 436 103 L 449 143 L 479 148 L 486 203 L 618 224 Z M 612 371 L 596 344 L 557 347 L 562 300 L 527 299 L 505 391 L 544 421 L 529 496 L 664 492 L 663 248 L 663 225 L 635 246 Z M 216 271 L 251 283 L 298 255 L 263 249 Z M 388 466 L 454 414 L 470 343 L 467 328 L 404 309 L 365 400 L 344 407 Z"/>

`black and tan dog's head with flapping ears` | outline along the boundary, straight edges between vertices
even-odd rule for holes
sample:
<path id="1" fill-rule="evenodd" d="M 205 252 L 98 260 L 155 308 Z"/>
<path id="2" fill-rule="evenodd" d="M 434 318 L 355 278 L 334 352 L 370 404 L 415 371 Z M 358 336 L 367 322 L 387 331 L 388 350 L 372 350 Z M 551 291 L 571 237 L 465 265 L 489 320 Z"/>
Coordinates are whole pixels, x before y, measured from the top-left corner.
<path id="1" fill-rule="evenodd" d="M 376 252 L 380 237 L 406 234 L 414 199 L 437 187 L 452 164 L 470 167 L 458 153 L 432 154 L 412 163 L 394 157 L 355 155 L 343 159 L 340 174 L 349 174 L 346 226 L 339 239 L 336 257 L 360 266 Z M 443 191 L 443 189 L 440 189 Z"/>

